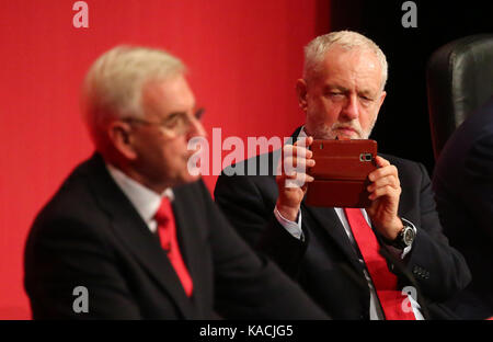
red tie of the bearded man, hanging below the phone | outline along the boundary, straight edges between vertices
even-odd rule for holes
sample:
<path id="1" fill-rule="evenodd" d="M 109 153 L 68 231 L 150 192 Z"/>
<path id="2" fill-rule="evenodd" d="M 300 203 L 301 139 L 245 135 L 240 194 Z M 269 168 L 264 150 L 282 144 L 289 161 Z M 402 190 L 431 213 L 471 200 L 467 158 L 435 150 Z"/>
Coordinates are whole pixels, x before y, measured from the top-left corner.
<path id="1" fill-rule="evenodd" d="M 389 271 L 386 259 L 378 252 L 377 237 L 358 208 L 344 208 L 351 230 L 359 247 L 366 267 L 377 290 L 387 320 L 414 320 L 406 295 L 398 289 L 398 277 Z M 409 300 L 409 299 L 408 299 Z"/>

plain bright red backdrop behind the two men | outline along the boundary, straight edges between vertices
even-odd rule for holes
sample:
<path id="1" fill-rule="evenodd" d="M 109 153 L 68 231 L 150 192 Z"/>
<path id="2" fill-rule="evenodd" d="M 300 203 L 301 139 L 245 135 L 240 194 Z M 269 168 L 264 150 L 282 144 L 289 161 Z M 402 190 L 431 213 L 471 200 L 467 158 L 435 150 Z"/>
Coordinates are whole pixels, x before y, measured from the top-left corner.
<path id="1" fill-rule="evenodd" d="M 0 319 L 31 317 L 30 225 L 92 152 L 79 112 L 91 61 L 122 43 L 165 48 L 190 67 L 209 135 L 283 137 L 303 121 L 302 46 L 329 30 L 329 0 L 88 0 L 88 29 L 73 27 L 74 2 L 0 1 Z"/>

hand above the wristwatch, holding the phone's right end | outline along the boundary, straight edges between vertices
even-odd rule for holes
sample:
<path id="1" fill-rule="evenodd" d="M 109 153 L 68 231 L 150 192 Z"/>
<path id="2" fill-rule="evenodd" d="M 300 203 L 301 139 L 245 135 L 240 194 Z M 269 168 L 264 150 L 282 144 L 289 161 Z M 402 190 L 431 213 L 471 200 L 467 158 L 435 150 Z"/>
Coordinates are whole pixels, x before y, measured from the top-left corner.
<path id="1" fill-rule="evenodd" d="M 385 238 L 394 240 L 403 227 L 398 216 L 401 183 L 397 168 L 388 160 L 377 156 L 376 162 L 379 169 L 368 174 L 371 184 L 367 190 L 372 203 L 366 212 L 375 228 Z"/>

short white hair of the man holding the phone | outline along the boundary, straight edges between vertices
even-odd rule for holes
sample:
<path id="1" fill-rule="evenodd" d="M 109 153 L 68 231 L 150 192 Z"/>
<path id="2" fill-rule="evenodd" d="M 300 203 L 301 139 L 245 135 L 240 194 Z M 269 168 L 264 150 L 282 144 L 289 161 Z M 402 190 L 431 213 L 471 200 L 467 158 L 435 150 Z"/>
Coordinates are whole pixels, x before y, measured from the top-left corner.
<path id="1" fill-rule="evenodd" d="M 381 67 L 381 90 L 385 89 L 388 76 L 388 64 L 383 52 L 368 37 L 353 31 L 336 31 L 318 36 L 305 47 L 303 79 L 309 80 L 321 70 L 321 64 L 331 46 L 337 45 L 345 49 L 366 49 L 375 54 Z"/>

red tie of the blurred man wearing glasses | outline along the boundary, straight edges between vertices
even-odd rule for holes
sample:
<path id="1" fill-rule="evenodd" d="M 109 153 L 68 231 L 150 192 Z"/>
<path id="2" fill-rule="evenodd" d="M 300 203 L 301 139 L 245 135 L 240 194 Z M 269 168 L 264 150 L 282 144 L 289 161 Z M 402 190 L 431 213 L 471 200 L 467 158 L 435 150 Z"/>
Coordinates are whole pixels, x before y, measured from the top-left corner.
<path id="1" fill-rule="evenodd" d="M 180 253 L 173 209 L 171 208 L 171 203 L 167 197 L 162 197 L 161 206 L 156 213 L 154 219 L 158 223 L 158 233 L 159 239 L 161 240 L 161 246 L 165 251 L 168 251 L 168 259 L 182 282 L 185 294 L 190 297 L 192 296 L 194 284 L 192 282 L 192 277 L 190 276 L 188 270 L 186 270 L 186 265 L 183 262 L 182 254 Z"/>

